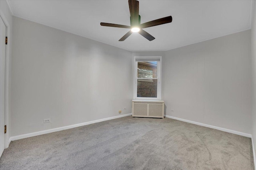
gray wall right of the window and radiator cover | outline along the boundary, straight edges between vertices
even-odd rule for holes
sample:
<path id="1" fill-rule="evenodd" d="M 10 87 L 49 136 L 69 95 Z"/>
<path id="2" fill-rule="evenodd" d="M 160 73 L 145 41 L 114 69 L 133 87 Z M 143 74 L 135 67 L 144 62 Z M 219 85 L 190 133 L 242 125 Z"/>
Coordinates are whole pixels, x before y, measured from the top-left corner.
<path id="1" fill-rule="evenodd" d="M 242 31 L 166 51 L 166 114 L 251 134 L 250 36 Z"/>

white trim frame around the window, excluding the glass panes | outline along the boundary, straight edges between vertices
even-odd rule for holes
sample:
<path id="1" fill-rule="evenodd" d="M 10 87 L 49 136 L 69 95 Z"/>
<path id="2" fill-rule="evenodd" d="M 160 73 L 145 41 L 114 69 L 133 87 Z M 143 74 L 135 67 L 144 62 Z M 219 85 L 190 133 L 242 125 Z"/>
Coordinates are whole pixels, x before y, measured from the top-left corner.
<path id="1" fill-rule="evenodd" d="M 157 66 L 157 74 L 158 74 L 158 85 L 157 85 L 157 97 L 156 98 L 142 98 L 142 97 L 137 97 L 137 63 L 136 59 L 160 59 L 158 61 L 158 66 Z M 162 56 L 134 56 L 134 61 L 133 61 L 133 99 L 137 100 L 162 100 Z"/>

